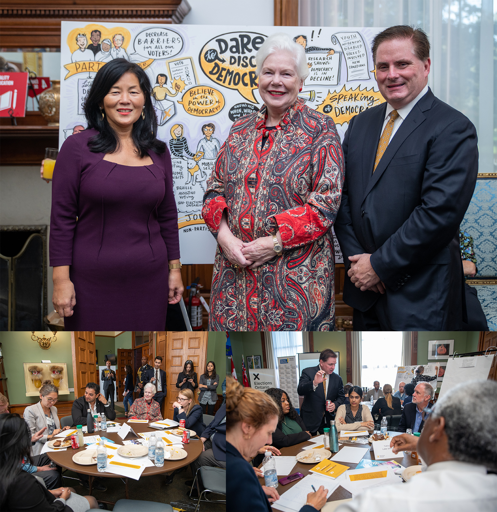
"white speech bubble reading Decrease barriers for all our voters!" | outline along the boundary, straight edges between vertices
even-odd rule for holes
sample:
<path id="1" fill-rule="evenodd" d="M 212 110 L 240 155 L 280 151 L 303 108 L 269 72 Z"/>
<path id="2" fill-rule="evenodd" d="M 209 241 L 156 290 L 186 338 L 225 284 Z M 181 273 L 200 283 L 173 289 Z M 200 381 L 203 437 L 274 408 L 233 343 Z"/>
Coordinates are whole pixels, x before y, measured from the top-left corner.
<path id="1" fill-rule="evenodd" d="M 164 27 L 152 27 L 142 30 L 133 40 L 135 53 L 144 59 L 167 59 L 174 57 L 183 48 L 183 38 L 178 32 Z"/>

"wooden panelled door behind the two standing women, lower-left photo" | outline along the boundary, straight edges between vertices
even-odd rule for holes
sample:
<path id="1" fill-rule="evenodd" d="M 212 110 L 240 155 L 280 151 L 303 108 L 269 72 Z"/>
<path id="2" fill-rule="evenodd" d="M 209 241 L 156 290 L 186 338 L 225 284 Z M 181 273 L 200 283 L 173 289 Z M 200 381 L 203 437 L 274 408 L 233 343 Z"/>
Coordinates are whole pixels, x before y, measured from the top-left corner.
<path id="1" fill-rule="evenodd" d="M 193 361 L 193 369 L 197 372 L 197 381 L 204 373 L 207 362 L 207 336 L 208 332 L 167 331 L 166 332 L 166 372 L 167 396 L 164 400 L 164 417 L 171 418 L 174 414 L 172 404 L 178 396 L 176 382 L 178 375 L 183 371 L 187 359 Z M 197 402 L 195 390 L 195 401 Z"/>

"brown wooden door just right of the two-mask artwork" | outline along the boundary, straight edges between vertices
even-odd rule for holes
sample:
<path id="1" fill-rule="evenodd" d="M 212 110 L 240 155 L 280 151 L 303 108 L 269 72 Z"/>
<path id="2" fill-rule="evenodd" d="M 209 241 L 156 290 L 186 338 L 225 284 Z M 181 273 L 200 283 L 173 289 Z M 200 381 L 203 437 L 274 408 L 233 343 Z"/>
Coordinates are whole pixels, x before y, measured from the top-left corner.
<path id="1" fill-rule="evenodd" d="M 100 382 L 95 357 L 95 331 L 71 331 L 71 348 L 74 397 L 79 398 L 84 396 L 88 382 Z"/>

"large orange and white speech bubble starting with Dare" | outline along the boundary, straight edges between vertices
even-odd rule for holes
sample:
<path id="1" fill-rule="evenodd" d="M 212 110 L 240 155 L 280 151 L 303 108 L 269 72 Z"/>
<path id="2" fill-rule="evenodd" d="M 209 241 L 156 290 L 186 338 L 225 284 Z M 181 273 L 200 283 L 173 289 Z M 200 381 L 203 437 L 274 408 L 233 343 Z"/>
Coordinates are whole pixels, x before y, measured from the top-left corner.
<path id="1" fill-rule="evenodd" d="M 246 100 L 257 103 L 254 89 L 255 54 L 266 35 L 258 32 L 229 32 L 206 42 L 199 54 L 204 74 L 220 86 L 238 91 Z"/>

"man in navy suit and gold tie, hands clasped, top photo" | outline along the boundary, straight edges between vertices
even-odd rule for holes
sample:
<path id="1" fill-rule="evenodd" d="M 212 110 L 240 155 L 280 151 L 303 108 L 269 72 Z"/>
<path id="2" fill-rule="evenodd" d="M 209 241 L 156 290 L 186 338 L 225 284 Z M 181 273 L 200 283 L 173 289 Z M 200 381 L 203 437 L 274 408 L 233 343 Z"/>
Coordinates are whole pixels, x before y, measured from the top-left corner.
<path id="1" fill-rule="evenodd" d="M 426 34 L 390 27 L 373 42 L 386 103 L 353 117 L 334 225 L 356 330 L 462 328 L 459 225 L 478 174 L 477 134 L 427 86 Z"/>

